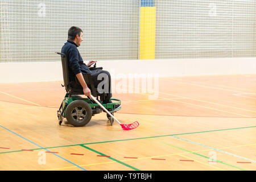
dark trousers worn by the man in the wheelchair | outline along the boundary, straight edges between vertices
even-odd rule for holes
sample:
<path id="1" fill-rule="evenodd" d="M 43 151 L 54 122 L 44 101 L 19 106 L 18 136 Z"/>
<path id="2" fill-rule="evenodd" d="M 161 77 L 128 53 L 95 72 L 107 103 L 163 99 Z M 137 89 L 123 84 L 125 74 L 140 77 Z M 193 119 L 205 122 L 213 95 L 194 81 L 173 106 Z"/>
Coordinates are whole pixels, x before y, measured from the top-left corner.
<path id="1" fill-rule="evenodd" d="M 106 94 L 106 97 L 103 97 L 103 104 L 109 103 L 112 97 L 110 73 L 102 69 L 94 69 L 91 72 L 92 80 L 97 91 L 100 94 Z"/>

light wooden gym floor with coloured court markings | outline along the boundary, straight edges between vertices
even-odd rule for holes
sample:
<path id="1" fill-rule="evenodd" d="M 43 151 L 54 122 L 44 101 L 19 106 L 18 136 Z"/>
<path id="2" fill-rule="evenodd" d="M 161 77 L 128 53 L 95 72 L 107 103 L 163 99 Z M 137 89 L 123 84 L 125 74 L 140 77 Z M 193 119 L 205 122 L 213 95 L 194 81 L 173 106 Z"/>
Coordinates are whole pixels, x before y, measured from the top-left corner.
<path id="1" fill-rule="evenodd" d="M 256 75 L 159 78 L 157 100 L 116 92 L 130 131 L 103 112 L 59 126 L 61 83 L 0 84 L 0 170 L 256 169 Z"/>

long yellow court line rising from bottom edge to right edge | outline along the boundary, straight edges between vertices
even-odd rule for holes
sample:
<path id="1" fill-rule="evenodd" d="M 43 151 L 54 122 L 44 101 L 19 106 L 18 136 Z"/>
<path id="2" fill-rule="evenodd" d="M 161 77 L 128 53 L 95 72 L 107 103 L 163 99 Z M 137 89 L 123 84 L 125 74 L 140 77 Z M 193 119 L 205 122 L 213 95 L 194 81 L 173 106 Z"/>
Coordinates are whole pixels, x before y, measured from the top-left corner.
<path id="1" fill-rule="evenodd" d="M 240 146 L 232 146 L 232 147 L 222 147 L 222 148 L 218 148 L 218 149 L 221 150 L 221 149 L 225 149 L 225 148 L 236 148 L 236 147 L 253 146 L 253 145 L 256 145 L 256 143 L 253 143 L 253 144 L 245 144 L 245 145 L 240 145 Z M 212 149 L 198 150 L 198 151 L 192 151 L 192 152 L 205 152 L 205 151 L 212 151 Z M 181 153 L 176 153 L 176 154 L 148 156 L 148 157 L 144 157 L 144 158 L 126 159 L 126 160 L 120 160 L 120 161 L 121 161 L 121 162 L 127 162 L 127 161 L 130 161 L 130 160 L 141 160 L 141 159 L 149 159 L 149 158 L 159 158 L 159 157 L 164 157 L 164 156 L 182 155 L 182 154 L 191 154 L 191 152 L 181 152 Z M 194 159 L 193 159 L 193 160 L 194 160 Z M 115 162 L 115 161 L 111 161 L 111 162 L 104 162 L 104 163 L 84 164 L 84 165 L 80 165 L 80 167 L 94 166 L 94 165 L 100 165 L 100 164 L 110 164 L 110 163 L 116 163 L 116 162 Z M 42 170 L 42 171 L 53 171 L 53 170 L 68 169 L 68 168 L 76 168 L 76 166 L 61 167 L 61 168 L 53 168 L 53 169 L 44 169 L 44 170 Z"/>

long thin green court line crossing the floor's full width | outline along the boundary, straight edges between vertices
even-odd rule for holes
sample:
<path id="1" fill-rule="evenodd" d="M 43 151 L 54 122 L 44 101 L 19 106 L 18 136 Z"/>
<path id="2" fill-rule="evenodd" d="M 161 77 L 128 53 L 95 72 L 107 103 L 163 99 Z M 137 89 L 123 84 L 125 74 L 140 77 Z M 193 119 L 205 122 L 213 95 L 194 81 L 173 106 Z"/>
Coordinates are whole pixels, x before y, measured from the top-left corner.
<path id="1" fill-rule="evenodd" d="M 207 133 L 207 132 L 213 132 L 213 131 L 247 129 L 247 128 L 251 128 L 251 127 L 256 127 L 256 126 L 238 127 L 238 128 L 233 128 L 233 129 L 197 131 L 197 132 L 192 132 L 192 133 L 181 133 L 181 134 L 172 134 L 172 135 L 159 135 L 159 136 L 154 136 L 154 137 L 142 137 L 142 138 L 131 138 L 131 139 L 122 139 L 122 140 L 110 140 L 110 141 L 105 141 L 105 142 L 93 142 L 93 143 L 81 143 L 81 144 L 86 144 L 87 145 L 87 144 L 97 144 L 97 143 L 121 142 L 121 141 L 128 141 L 128 140 L 137 140 L 137 139 L 148 139 L 148 138 L 158 138 L 158 137 L 170 137 L 170 136 L 176 136 L 176 135 L 188 135 L 188 134 L 196 134 L 196 133 Z M 46 147 L 46 148 L 34 148 L 34 149 L 30 149 L 30 150 L 42 150 L 42 149 L 48 149 L 48 148 L 72 147 L 72 146 L 79 146 L 81 144 L 71 144 L 71 145 L 67 145 L 67 146 Z M 22 150 L 0 152 L 0 154 L 6 154 L 6 153 L 11 153 L 11 152 L 22 152 Z"/>

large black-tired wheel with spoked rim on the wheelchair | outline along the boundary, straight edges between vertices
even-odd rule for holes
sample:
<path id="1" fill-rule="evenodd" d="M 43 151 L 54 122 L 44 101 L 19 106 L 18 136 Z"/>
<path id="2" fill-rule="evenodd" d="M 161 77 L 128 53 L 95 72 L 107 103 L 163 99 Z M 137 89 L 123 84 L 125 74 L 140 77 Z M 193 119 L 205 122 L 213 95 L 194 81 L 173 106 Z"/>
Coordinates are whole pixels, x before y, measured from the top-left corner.
<path id="1" fill-rule="evenodd" d="M 85 101 L 73 101 L 67 106 L 66 118 L 73 126 L 84 126 L 92 118 L 92 109 Z"/>

